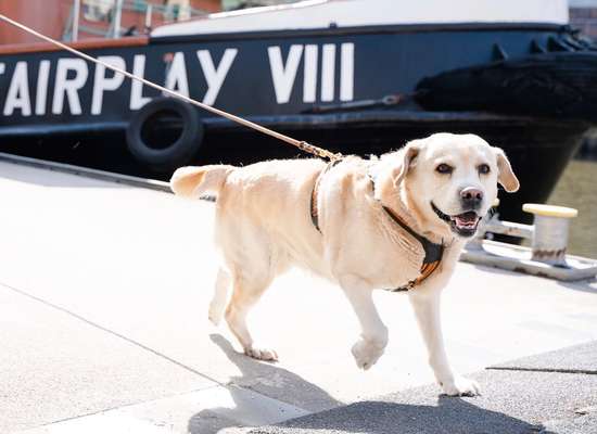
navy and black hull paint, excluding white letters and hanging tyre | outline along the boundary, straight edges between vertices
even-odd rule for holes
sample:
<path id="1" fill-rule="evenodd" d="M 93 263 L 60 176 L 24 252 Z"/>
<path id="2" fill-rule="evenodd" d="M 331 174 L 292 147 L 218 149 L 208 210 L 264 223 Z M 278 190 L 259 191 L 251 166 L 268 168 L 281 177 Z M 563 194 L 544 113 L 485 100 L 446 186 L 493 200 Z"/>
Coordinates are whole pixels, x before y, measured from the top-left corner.
<path id="1" fill-rule="evenodd" d="M 572 37 L 571 40 L 566 38 Z M 319 30 L 289 30 L 253 34 L 201 35 L 153 38 L 149 46 L 89 50 L 91 55 L 116 55 L 132 71 L 134 59 L 144 56 L 144 78 L 163 85 L 172 67 L 173 54 L 182 53 L 189 93 L 202 101 L 207 81 L 198 58 L 206 50 L 217 68 L 226 50 L 237 50 L 214 105 L 246 116 L 281 132 L 312 141 L 332 151 L 369 154 L 396 149 L 406 141 L 437 131 L 475 132 L 490 143 L 504 148 L 513 162 L 522 181 L 515 195 L 504 195 L 501 215 L 517 217 L 513 209 L 524 201 L 545 200 L 556 180 L 575 151 L 588 124 L 571 115 L 567 120 L 554 120 L 542 112 L 549 104 L 541 101 L 536 111 L 519 116 L 496 106 L 467 106 L 465 94 L 450 94 L 441 107 L 424 110 L 418 102 L 403 98 L 412 95 L 425 77 L 465 71 L 480 65 L 495 65 L 496 51 L 504 59 L 530 59 L 542 52 L 550 40 L 559 41 L 566 51 L 546 55 L 574 55 L 575 43 L 583 50 L 590 47 L 574 38 L 567 27 L 545 25 L 463 24 L 436 26 L 379 26 L 359 28 L 330 28 Z M 350 101 L 341 101 L 341 48 L 354 44 L 354 87 Z M 333 98 L 322 101 L 321 68 L 323 46 L 335 47 Z M 287 101 L 277 101 L 268 49 L 279 47 L 283 65 L 288 66 L 291 46 L 301 46 L 303 54 Z M 317 48 L 315 100 L 305 102 L 305 58 L 307 46 Z M 568 51 L 568 49 L 572 51 Z M 586 53 L 585 53 L 586 54 Z M 536 54 L 538 55 L 538 54 Z M 507 56 L 507 59 L 506 59 Z M 147 167 L 136 163 L 126 152 L 124 130 L 131 118 L 131 82 L 125 80 L 115 91 L 103 92 L 101 113 L 91 113 L 96 66 L 87 65 L 87 80 L 78 91 L 81 113 L 73 114 L 65 97 L 64 110 L 52 114 L 56 81 L 56 62 L 74 59 L 69 53 L 43 52 L 0 56 L 0 148 L 24 155 L 64 161 L 91 167 L 113 169 L 135 175 L 151 175 Z M 547 58 L 545 58 L 547 59 Z M 38 73 L 40 62 L 50 62 L 47 101 L 43 114 L 36 114 Z M 7 97 L 13 84 L 17 64 L 26 64 L 27 91 L 31 114 L 23 110 L 7 112 Z M 2 66 L 3 65 L 3 66 Z M 20 66 L 23 68 L 23 66 Z M 313 72 L 312 72 L 313 73 Z M 73 72 L 67 78 L 73 78 Z M 106 73 L 112 77 L 112 73 Z M 469 78 L 465 77 L 465 81 Z M 465 82 L 466 85 L 466 82 Z M 466 88 L 466 86 L 465 86 Z M 597 87 L 592 88 L 594 92 Z M 436 92 L 439 89 L 433 89 Z M 14 91 L 14 89 L 13 89 Z M 477 90 L 475 90 L 477 91 Z M 429 89 L 425 89 L 429 92 Z M 143 89 L 143 97 L 158 97 L 157 91 Z M 397 104 L 371 104 L 346 108 L 351 102 L 382 101 L 388 95 L 399 95 Z M 20 98 L 25 95 L 20 94 Z M 424 92 L 420 95 L 425 97 Z M 543 98 L 543 97 L 542 97 Z M 549 99 L 547 94 L 544 98 Z M 491 99 L 487 99 L 491 100 Z M 429 102 L 429 99 L 427 100 Z M 317 111 L 318 107 L 332 110 Z M 335 108 L 334 108 L 335 107 Z M 315 108 L 315 111 L 314 111 Z M 482 110 L 483 112 L 480 112 Z M 461 111 L 461 112 L 458 112 Z M 488 112 L 494 112 L 488 113 Z M 538 116 L 541 115 L 541 116 Z M 265 157 L 292 157 L 298 151 L 230 122 L 201 113 L 206 128 L 204 143 L 195 163 L 251 163 Z M 167 175 L 166 175 L 167 176 Z M 516 204 L 516 206 L 515 206 Z M 519 213 L 516 219 L 521 219 Z"/>

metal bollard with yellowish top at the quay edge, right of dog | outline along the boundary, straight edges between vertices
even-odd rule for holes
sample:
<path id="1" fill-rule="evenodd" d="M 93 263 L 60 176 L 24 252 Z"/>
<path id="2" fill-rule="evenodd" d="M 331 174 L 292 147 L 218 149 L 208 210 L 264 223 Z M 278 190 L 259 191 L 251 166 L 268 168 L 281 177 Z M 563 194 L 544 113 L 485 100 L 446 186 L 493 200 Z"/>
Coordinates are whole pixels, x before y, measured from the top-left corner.
<path id="1" fill-rule="evenodd" d="M 566 248 L 570 219 L 579 215 L 574 208 L 524 204 L 522 210 L 534 215 L 533 260 L 567 267 Z"/>

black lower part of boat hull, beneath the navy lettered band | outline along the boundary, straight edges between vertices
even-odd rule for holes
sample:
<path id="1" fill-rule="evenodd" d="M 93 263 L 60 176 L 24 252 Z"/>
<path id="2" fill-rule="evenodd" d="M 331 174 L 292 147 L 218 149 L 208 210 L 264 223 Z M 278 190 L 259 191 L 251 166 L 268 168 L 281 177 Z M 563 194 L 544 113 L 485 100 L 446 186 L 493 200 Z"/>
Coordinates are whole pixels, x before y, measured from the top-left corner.
<path id="1" fill-rule="evenodd" d="M 530 222 L 521 204 L 547 201 L 589 125 L 547 118 L 499 116 L 487 113 L 424 113 L 369 111 L 330 115 L 255 117 L 253 120 L 307 140 L 334 152 L 367 157 L 404 145 L 437 131 L 480 135 L 503 148 L 521 181 L 515 194 L 499 194 L 505 219 Z M 0 151 L 43 159 L 79 164 L 167 180 L 170 173 L 155 173 L 139 164 L 122 145 L 123 131 L 86 137 L 50 136 L 24 139 Z M 208 125 L 204 143 L 190 164 L 250 164 L 267 158 L 308 157 L 297 149 L 258 132 L 221 120 Z"/>

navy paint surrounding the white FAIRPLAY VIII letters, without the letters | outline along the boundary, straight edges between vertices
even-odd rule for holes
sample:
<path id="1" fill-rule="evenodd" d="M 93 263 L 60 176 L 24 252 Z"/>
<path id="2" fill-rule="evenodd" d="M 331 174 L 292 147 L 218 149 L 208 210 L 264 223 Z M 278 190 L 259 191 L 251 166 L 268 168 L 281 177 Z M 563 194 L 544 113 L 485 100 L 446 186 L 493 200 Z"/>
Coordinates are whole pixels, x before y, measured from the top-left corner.
<path id="1" fill-rule="evenodd" d="M 477 25 L 472 28 L 480 28 Z M 443 28 L 443 29 L 442 29 Z M 290 47 L 300 44 L 315 44 L 318 47 L 318 76 L 321 68 L 321 49 L 323 44 L 334 44 L 335 55 L 335 94 L 333 101 L 339 101 L 338 87 L 340 80 L 340 47 L 342 43 L 354 43 L 354 99 L 379 99 L 390 93 L 411 92 L 417 84 L 427 76 L 434 76 L 442 72 L 485 64 L 492 61 L 493 44 L 499 44 L 511 58 L 520 58 L 529 53 L 533 40 L 547 43 L 554 36 L 554 31 L 561 29 L 557 26 L 499 28 L 497 26 L 485 27 L 485 30 L 471 34 L 469 27 L 446 28 L 425 27 L 425 31 L 419 31 L 420 26 L 384 26 L 378 33 L 369 28 L 369 33 L 350 33 L 336 29 L 322 29 L 308 31 L 298 36 L 288 36 L 285 33 L 268 33 L 255 36 L 255 39 L 232 38 L 230 35 L 225 40 L 209 40 L 205 36 L 179 37 L 178 40 L 164 38 L 153 39 L 147 47 L 113 48 L 89 50 L 92 55 L 122 56 L 128 71 L 132 69 L 134 56 L 145 56 L 144 78 L 157 84 L 165 82 L 165 76 L 170 62 L 172 53 L 182 52 L 186 63 L 186 72 L 189 81 L 189 91 L 192 98 L 200 101 L 205 95 L 207 84 L 201 64 L 198 60 L 198 50 L 208 50 L 214 65 L 218 65 L 226 49 L 238 50 L 233 64 L 227 74 L 226 80 L 219 91 L 215 105 L 240 115 L 289 115 L 298 114 L 309 110 L 314 104 L 303 101 L 302 85 L 304 81 L 303 60 L 296 72 L 294 86 L 288 103 L 277 103 L 270 62 L 268 59 L 269 47 L 280 47 L 282 60 L 288 60 Z M 20 110 L 12 115 L 0 118 L 0 136 L 3 127 L 30 126 L 40 123 L 60 125 L 65 130 L 75 125 L 92 123 L 110 123 L 128 120 L 131 111 L 128 108 L 130 100 L 131 82 L 125 80 L 117 91 L 106 91 L 103 94 L 102 112 L 100 115 L 91 114 L 92 89 L 94 81 L 94 65 L 88 65 L 88 78 L 86 85 L 78 91 L 82 113 L 73 115 L 72 107 L 65 102 L 64 110 L 59 114 L 51 114 L 53 101 L 56 62 L 59 59 L 73 59 L 73 55 L 64 52 L 28 53 L 4 55 L 0 63 L 4 64 L 4 72 L 0 75 L 0 103 L 4 103 L 9 91 L 15 65 L 26 62 L 28 72 L 29 93 L 31 111 L 34 111 L 39 63 L 42 60 L 50 61 L 50 75 L 47 89 L 46 114 L 24 116 Z M 74 73 L 69 73 L 71 77 Z M 110 76 L 110 73 L 107 74 Z M 319 81 L 318 77 L 318 81 Z M 320 103 L 320 82 L 318 82 L 318 98 L 315 104 Z M 157 97 L 158 92 L 145 89 L 144 97 Z M 332 102 L 333 102 L 332 101 Z"/>

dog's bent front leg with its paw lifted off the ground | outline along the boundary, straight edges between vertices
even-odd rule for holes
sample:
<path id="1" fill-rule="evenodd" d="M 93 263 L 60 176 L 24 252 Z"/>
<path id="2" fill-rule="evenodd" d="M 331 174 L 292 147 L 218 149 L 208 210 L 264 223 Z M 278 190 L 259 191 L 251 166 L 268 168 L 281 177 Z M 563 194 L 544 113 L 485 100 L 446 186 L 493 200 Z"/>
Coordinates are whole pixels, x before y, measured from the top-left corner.
<path id="1" fill-rule="evenodd" d="M 340 285 L 351 302 L 360 324 L 360 339 L 353 345 L 353 356 L 361 369 L 371 368 L 388 345 L 388 328 L 381 321 L 373 303 L 373 291 L 356 276 L 340 279 Z"/>

